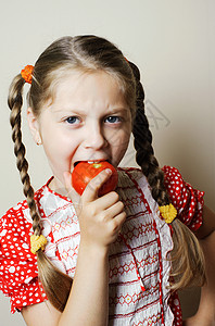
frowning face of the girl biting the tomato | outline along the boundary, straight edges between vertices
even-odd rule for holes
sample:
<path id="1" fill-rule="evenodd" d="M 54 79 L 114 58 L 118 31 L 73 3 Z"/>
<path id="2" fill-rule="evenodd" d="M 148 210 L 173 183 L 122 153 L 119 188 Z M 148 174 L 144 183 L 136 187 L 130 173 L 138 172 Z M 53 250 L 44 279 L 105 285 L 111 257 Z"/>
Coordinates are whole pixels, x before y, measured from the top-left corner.
<path id="1" fill-rule="evenodd" d="M 131 115 L 117 82 L 100 72 L 72 72 L 34 123 L 53 175 L 63 183 L 77 161 L 109 160 L 117 166 L 128 147 Z"/>

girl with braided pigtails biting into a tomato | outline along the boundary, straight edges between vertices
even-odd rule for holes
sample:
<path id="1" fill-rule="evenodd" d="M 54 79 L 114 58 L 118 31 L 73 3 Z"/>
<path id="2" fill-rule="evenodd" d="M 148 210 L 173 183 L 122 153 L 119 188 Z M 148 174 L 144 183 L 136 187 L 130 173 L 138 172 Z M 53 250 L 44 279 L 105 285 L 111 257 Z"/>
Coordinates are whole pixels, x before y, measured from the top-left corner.
<path id="1" fill-rule="evenodd" d="M 21 135 L 25 83 L 29 128 L 53 173 L 36 193 Z M 137 66 L 96 36 L 56 40 L 14 78 L 9 106 L 26 200 L 0 221 L 0 276 L 27 325 L 38 315 L 46 326 L 182 324 L 176 290 L 204 281 L 192 231 L 208 235 L 213 214 L 176 168 L 159 167 L 143 99 Z M 99 197 L 105 170 L 80 197 L 74 166 L 116 167 L 131 131 L 140 170 L 118 167 L 116 190 Z"/>

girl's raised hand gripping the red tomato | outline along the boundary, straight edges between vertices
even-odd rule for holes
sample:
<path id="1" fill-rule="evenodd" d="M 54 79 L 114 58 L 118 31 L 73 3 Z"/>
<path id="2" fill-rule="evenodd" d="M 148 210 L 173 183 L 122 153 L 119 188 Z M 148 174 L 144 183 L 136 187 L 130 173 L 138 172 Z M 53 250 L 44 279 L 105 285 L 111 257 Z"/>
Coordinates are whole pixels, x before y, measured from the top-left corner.
<path id="1" fill-rule="evenodd" d="M 72 191 L 71 174 L 65 173 L 64 176 L 69 192 Z M 98 197 L 99 189 L 110 176 L 111 174 L 104 170 L 91 179 L 76 206 L 80 225 L 80 240 L 86 246 L 108 248 L 116 240 L 125 222 L 124 204 L 119 201 L 117 192 L 111 191 L 105 196 Z"/>

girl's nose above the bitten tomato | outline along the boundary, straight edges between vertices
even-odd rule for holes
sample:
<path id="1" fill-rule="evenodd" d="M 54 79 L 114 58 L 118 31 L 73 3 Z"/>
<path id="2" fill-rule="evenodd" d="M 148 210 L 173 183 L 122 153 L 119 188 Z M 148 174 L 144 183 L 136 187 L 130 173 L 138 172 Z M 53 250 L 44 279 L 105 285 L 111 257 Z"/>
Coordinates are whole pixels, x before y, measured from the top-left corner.
<path id="1" fill-rule="evenodd" d="M 85 137 L 85 148 L 99 150 L 108 146 L 108 140 L 103 135 L 101 126 L 91 126 Z"/>

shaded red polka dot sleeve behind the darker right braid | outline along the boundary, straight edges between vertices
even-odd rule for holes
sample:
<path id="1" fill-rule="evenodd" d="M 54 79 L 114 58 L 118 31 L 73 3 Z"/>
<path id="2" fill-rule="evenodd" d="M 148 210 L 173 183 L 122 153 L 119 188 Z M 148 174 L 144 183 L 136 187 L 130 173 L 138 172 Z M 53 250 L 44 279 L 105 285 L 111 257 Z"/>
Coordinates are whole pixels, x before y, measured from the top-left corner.
<path id="1" fill-rule="evenodd" d="M 165 165 L 162 170 L 172 203 L 178 211 L 178 218 L 192 231 L 197 230 L 202 224 L 204 192 L 186 183 L 177 168 Z"/>

